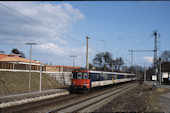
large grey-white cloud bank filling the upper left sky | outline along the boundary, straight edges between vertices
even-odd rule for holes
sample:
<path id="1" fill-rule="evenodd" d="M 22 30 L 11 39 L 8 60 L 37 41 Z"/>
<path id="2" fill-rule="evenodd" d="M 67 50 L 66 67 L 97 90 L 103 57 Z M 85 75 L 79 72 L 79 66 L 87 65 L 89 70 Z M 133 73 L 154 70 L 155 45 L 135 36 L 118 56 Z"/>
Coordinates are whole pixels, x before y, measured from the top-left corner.
<path id="1" fill-rule="evenodd" d="M 41 43 L 56 40 L 63 42 L 61 37 L 66 37 L 65 34 L 72 26 L 72 23 L 85 18 L 79 9 L 74 8 L 69 3 L 57 5 L 44 2 L 1 3 L 27 16 L 0 5 L 0 31 L 12 34 L 8 34 L 9 36 L 5 36 L 5 38 L 6 33 L 0 34 L 0 38 L 4 38 L 3 41 L 6 41 L 6 43 L 8 43 L 11 36 L 15 38 L 25 37 L 25 42 L 28 40 L 41 40 Z M 13 41 L 17 43 L 18 40 L 15 38 L 13 38 Z"/>

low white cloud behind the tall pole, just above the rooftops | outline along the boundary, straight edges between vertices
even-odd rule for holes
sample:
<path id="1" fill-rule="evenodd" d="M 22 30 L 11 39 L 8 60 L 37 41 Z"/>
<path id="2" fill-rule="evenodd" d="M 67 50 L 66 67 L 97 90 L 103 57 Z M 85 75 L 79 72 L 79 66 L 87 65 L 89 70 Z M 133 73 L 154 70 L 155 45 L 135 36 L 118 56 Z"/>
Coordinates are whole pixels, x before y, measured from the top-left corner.
<path id="1" fill-rule="evenodd" d="M 86 47 L 69 47 L 59 46 L 53 43 L 34 45 L 34 51 L 38 51 L 36 60 L 43 63 L 52 63 L 53 65 L 69 65 L 72 66 L 71 55 L 76 55 L 75 65 L 85 66 L 86 63 Z M 93 49 L 89 48 L 89 59 L 96 53 Z"/>

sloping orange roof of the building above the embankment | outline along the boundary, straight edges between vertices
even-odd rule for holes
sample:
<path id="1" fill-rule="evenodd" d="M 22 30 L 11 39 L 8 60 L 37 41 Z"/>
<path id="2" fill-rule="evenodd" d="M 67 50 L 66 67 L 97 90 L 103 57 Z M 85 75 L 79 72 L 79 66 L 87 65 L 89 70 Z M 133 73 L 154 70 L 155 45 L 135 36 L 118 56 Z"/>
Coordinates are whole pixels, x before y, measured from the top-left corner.
<path id="1" fill-rule="evenodd" d="M 30 60 L 25 59 L 25 58 L 21 58 L 18 55 L 2 55 L 0 54 L 0 62 L 25 62 L 25 63 L 30 63 Z M 37 61 L 31 61 L 31 63 L 35 63 L 35 64 L 42 64 L 40 62 Z"/>

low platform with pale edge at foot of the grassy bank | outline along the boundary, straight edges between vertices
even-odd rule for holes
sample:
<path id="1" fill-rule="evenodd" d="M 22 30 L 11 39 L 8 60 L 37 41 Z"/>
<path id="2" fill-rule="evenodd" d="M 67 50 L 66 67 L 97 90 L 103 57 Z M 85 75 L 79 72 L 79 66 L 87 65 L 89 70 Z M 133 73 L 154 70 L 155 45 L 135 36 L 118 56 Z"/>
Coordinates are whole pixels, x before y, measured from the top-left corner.
<path id="1" fill-rule="evenodd" d="M 0 109 L 70 94 L 67 88 L 0 96 Z"/>

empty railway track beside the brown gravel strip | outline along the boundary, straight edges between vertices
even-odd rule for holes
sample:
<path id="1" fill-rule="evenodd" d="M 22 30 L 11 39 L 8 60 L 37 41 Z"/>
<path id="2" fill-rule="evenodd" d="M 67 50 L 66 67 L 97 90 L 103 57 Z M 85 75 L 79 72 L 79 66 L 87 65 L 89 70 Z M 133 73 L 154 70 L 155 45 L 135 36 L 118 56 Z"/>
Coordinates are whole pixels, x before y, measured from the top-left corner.
<path id="1" fill-rule="evenodd" d="M 66 112 L 92 112 L 101 105 L 104 105 L 116 98 L 118 95 L 125 93 L 131 88 L 137 87 L 136 84 L 130 84 L 128 86 L 122 86 L 119 89 L 114 89 L 112 91 L 105 92 L 103 94 L 99 94 L 95 97 L 88 98 L 86 100 L 75 102 L 70 105 L 66 105 L 54 110 L 49 111 L 48 113 L 66 113 Z"/>

